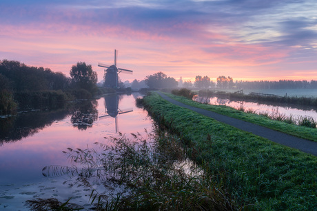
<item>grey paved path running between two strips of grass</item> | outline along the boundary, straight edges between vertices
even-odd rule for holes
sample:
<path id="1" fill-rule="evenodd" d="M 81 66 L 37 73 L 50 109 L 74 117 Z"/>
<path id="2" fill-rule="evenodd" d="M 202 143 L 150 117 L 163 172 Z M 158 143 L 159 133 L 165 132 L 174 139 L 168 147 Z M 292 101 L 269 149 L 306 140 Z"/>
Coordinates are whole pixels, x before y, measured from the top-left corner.
<path id="1" fill-rule="evenodd" d="M 173 104 L 176 104 L 180 107 L 184 107 L 186 109 L 190 109 L 192 111 L 196 111 L 197 113 L 201 113 L 209 118 L 213 118 L 219 122 L 223 122 L 225 124 L 229 124 L 231 126 L 236 127 L 237 129 L 241 129 L 243 131 L 247 131 L 253 133 L 254 135 L 258 135 L 260 137 L 265 137 L 272 142 L 276 142 L 278 144 L 283 144 L 285 146 L 289 146 L 292 148 L 297 148 L 300 151 L 305 153 L 309 153 L 311 155 L 317 156 L 317 142 L 312 142 L 309 140 L 304 140 L 299 137 L 294 137 L 292 135 L 287 135 L 286 133 L 281 133 L 278 131 L 274 131 L 272 129 L 268 129 L 264 126 L 259 126 L 257 124 L 252 124 L 250 122 L 245 122 L 243 120 L 238 120 L 235 118 L 230 118 L 226 115 L 221 115 L 212 111 L 207 111 L 205 109 L 198 109 L 196 107 L 191 107 L 187 104 L 183 104 L 182 102 L 178 102 L 177 100 L 173 100 L 165 96 L 165 94 L 161 92 L 157 92 L 159 95 Z M 316 132 L 317 133 L 317 132 Z"/>

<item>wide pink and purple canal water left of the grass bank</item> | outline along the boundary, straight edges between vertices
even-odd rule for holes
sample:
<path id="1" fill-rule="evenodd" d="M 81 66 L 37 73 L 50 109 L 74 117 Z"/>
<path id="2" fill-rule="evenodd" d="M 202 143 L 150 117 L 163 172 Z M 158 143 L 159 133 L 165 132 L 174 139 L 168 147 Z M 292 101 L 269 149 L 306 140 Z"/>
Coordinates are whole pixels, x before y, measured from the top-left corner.
<path id="1" fill-rule="evenodd" d="M 139 93 L 72 102 L 56 111 L 29 109 L 0 117 L 0 210 L 28 210 L 30 199 L 57 198 L 89 207 L 91 190 L 68 186 L 68 177 L 44 177 L 45 166 L 70 166 L 67 148 L 108 144 L 104 137 L 146 135 L 152 119 L 136 107 Z M 110 143 L 109 143 L 110 144 Z"/>

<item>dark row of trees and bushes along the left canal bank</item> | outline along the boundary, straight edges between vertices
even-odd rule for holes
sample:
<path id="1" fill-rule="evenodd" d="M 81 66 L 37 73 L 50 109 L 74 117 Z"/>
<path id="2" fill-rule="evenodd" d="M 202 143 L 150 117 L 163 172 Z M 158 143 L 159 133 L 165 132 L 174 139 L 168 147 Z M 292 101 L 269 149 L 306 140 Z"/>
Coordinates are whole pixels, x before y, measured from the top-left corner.
<path id="1" fill-rule="evenodd" d="M 32 67 L 16 60 L 0 60 L 0 115 L 12 113 L 19 104 L 40 101 L 51 104 L 68 98 L 91 98 L 98 91 L 97 74 L 79 62 L 70 77 L 49 68 Z"/>

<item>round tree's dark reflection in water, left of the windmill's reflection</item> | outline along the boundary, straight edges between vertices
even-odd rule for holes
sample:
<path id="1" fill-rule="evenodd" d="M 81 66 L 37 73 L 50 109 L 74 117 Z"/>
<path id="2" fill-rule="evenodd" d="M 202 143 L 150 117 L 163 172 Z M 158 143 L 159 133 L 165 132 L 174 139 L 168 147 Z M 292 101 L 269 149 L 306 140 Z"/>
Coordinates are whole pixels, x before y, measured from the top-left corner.
<path id="1" fill-rule="evenodd" d="M 97 104 L 96 100 L 88 100 L 75 104 L 72 110 L 72 117 L 70 118 L 72 125 L 81 131 L 92 127 L 92 123 L 98 119 Z"/>

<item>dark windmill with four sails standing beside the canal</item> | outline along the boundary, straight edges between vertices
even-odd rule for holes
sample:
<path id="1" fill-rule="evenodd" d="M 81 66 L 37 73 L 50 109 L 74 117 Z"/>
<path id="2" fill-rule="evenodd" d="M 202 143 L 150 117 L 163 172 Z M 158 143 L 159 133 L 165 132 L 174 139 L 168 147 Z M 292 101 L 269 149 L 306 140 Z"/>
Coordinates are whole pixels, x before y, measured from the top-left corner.
<path id="1" fill-rule="evenodd" d="M 118 58 L 118 51 L 114 49 L 114 65 L 105 65 L 103 63 L 98 63 L 99 67 L 105 67 L 105 87 L 118 88 L 119 79 L 118 74 L 121 72 L 125 74 L 132 74 L 133 71 L 129 69 L 122 69 L 116 67 L 116 59 Z"/>

